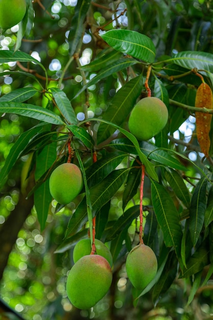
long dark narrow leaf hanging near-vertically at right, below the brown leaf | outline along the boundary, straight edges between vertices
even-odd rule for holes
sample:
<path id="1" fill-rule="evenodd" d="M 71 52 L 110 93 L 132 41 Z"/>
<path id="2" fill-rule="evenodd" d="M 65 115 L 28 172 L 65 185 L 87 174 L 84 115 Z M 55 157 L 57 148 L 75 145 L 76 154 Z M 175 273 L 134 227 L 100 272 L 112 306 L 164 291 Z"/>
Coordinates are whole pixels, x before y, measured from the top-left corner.
<path id="1" fill-rule="evenodd" d="M 206 211 L 206 187 L 207 179 L 203 177 L 198 182 L 192 195 L 188 222 L 193 245 L 196 245 L 203 227 Z"/>

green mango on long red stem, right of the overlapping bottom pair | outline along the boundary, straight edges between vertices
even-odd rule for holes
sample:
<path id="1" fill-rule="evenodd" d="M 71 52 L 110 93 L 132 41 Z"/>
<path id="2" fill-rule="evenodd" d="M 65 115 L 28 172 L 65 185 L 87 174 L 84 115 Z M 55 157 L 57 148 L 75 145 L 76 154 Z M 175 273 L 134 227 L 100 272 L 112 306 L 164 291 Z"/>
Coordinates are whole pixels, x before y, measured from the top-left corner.
<path id="1" fill-rule="evenodd" d="M 157 273 L 157 258 L 153 250 L 145 244 L 132 248 L 127 256 L 126 271 L 132 285 L 142 291 Z"/>

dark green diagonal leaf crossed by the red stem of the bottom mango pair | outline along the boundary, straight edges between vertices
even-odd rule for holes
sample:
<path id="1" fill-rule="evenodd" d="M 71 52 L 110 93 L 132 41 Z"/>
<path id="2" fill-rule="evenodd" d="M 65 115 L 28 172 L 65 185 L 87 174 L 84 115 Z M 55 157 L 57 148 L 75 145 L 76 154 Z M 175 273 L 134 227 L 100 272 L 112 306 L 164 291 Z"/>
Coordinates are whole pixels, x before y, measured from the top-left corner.
<path id="1" fill-rule="evenodd" d="M 128 169 L 119 169 L 112 171 L 100 184 L 90 188 L 90 199 L 92 206 L 92 215 L 96 213 L 106 204 L 119 190 L 126 179 Z M 72 218 L 70 218 L 66 237 L 81 230 L 87 221 L 87 205 L 85 197 L 79 203 Z"/>

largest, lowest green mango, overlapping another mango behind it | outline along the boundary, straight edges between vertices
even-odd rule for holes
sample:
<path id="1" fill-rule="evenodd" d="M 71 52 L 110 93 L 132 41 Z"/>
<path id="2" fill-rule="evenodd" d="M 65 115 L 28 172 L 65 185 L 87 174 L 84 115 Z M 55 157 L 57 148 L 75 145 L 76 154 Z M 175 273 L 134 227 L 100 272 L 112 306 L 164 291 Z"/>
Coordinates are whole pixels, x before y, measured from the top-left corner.
<path id="1" fill-rule="evenodd" d="M 66 293 L 76 308 L 87 310 L 105 296 L 111 283 L 112 271 L 108 261 L 99 255 L 87 255 L 69 271 Z"/>

